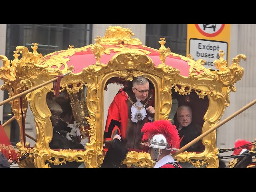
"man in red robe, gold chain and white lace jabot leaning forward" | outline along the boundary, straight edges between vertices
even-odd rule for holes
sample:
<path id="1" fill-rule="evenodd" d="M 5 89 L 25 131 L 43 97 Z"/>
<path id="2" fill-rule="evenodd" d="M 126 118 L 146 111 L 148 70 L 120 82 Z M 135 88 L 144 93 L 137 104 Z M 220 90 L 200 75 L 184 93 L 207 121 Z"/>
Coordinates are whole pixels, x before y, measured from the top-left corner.
<path id="1" fill-rule="evenodd" d="M 154 91 L 143 76 L 134 78 L 132 88 L 121 88 L 108 109 L 104 143 L 108 144 L 118 134 L 126 142 L 126 148 L 143 149 L 140 145 L 142 126 L 154 120 Z"/>

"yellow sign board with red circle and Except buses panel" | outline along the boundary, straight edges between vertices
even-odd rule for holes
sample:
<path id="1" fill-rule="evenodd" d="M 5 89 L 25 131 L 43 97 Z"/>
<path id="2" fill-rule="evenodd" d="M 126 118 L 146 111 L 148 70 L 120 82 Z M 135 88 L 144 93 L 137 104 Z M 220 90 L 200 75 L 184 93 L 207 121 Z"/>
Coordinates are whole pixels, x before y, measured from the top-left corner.
<path id="1" fill-rule="evenodd" d="M 229 46 L 230 24 L 188 24 L 187 56 L 206 60 L 206 68 L 218 70 L 213 62 L 220 58 L 220 50 L 224 50 L 228 63 Z"/>

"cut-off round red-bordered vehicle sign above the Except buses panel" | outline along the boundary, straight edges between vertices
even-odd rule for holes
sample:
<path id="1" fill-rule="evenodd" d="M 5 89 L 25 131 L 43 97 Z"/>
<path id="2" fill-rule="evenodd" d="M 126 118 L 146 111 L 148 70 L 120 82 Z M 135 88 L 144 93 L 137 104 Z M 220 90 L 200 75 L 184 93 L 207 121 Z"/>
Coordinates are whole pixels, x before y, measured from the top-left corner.
<path id="1" fill-rule="evenodd" d="M 197 30 L 206 37 L 215 37 L 220 34 L 225 24 L 195 24 Z"/>

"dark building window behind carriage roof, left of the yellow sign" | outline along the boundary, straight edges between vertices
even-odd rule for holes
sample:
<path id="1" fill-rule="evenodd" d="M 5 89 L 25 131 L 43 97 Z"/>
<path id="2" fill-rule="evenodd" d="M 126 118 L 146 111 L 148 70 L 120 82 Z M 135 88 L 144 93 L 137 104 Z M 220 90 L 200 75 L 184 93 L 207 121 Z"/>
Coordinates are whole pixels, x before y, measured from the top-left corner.
<path id="1" fill-rule="evenodd" d="M 186 56 L 187 24 L 146 24 L 146 46 L 160 48 L 159 38 L 165 37 L 165 47 Z"/>

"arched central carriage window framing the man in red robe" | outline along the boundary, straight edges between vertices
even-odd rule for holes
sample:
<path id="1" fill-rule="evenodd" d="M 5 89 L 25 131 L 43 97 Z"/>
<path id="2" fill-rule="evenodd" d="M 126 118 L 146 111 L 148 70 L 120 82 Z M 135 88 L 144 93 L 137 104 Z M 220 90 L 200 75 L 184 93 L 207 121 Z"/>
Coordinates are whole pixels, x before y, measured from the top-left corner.
<path id="1" fill-rule="evenodd" d="M 132 84 L 124 79 L 110 78 L 106 83 L 104 148 L 108 148 L 113 136 L 118 134 L 126 148 L 148 151 L 140 144 L 143 136 L 140 130 L 146 122 L 154 120 L 154 86 L 145 78 L 140 82 Z"/>

